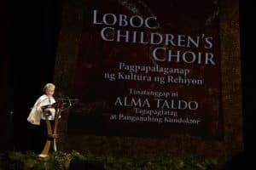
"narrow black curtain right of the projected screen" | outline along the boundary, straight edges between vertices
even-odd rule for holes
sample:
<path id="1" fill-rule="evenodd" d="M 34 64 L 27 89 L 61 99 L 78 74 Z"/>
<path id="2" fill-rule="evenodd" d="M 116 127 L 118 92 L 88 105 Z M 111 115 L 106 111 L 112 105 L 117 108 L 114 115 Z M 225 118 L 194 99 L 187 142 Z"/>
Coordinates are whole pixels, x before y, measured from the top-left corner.
<path id="1" fill-rule="evenodd" d="M 241 81 L 242 113 L 244 124 L 244 146 L 246 154 L 253 155 L 256 139 L 255 129 L 255 1 L 240 1 L 240 34 L 241 34 Z"/>

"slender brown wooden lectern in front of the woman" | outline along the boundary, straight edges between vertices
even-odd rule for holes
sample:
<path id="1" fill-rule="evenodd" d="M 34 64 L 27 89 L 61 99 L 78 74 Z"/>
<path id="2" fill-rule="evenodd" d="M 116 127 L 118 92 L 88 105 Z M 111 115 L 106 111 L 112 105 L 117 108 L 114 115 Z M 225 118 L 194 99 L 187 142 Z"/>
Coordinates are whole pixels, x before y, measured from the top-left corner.
<path id="1" fill-rule="evenodd" d="M 66 106 L 67 102 L 65 100 L 69 100 L 69 105 Z M 61 118 L 61 113 L 66 111 L 71 106 L 70 99 L 57 99 L 57 102 L 53 105 L 45 105 L 42 107 L 43 114 L 45 116 L 45 122 L 47 127 L 47 139 L 44 144 L 44 149 L 42 150 L 40 157 L 48 156 L 49 149 L 51 144 L 53 143 L 54 151 L 57 151 L 56 139 L 59 138 L 57 133 L 59 121 Z M 49 122 L 49 116 L 52 114 L 50 109 L 55 109 L 55 120 L 53 123 Z"/>

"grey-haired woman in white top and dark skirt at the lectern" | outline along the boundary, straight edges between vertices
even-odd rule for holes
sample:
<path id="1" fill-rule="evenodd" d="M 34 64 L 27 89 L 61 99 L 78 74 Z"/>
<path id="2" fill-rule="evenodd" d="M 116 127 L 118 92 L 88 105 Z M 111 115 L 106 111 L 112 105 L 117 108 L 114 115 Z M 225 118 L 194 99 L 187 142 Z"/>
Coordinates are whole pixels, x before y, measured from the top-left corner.
<path id="1" fill-rule="evenodd" d="M 47 138 L 46 117 L 44 116 L 42 107 L 55 104 L 55 99 L 53 97 L 55 94 L 55 85 L 53 83 L 47 83 L 44 86 L 43 92 L 44 94 L 37 99 L 32 107 L 32 111 L 27 117 L 27 121 L 30 122 L 30 133 L 32 133 L 29 147 L 35 152 L 43 150 Z M 47 108 L 46 110 L 47 114 L 49 114 L 49 121 L 53 122 L 55 120 L 55 109 Z"/>

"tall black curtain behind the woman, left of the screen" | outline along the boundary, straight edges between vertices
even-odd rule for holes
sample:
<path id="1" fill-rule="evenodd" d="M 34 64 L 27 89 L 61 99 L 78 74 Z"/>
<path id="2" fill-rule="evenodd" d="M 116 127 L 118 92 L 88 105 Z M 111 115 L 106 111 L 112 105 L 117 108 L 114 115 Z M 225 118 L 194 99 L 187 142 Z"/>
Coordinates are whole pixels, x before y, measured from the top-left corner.
<path id="1" fill-rule="evenodd" d="M 53 81 L 61 0 L 8 1 L 9 105 L 14 150 L 26 150 L 26 117 Z M 5 113 L 9 116 L 9 112 Z M 11 132 L 10 132 L 11 133 Z"/>

